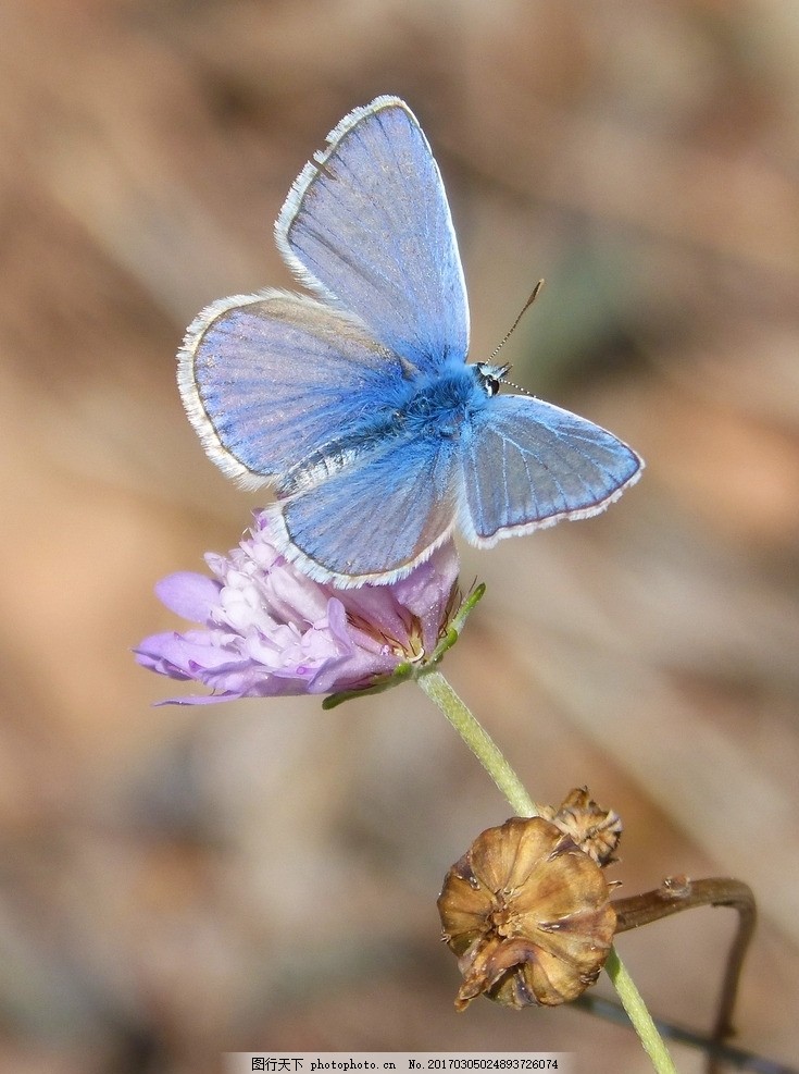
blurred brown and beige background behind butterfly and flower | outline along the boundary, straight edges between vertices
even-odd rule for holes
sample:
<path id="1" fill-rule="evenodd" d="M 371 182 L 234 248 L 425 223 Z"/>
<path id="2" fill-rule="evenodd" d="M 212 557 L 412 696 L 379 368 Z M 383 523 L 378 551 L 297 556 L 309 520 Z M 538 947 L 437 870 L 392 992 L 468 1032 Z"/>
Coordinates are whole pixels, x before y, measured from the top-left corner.
<path id="1" fill-rule="evenodd" d="M 257 1048 L 649 1070 L 576 1010 L 454 1013 L 435 898 L 508 808 L 416 688 L 152 708 L 174 684 L 129 653 L 177 625 L 154 581 L 262 498 L 184 418 L 184 328 L 291 286 L 272 221 L 382 92 L 440 163 L 473 355 L 546 276 L 514 379 L 648 461 L 598 519 L 463 550 L 488 594 L 445 671 L 534 797 L 588 783 L 622 814 L 624 893 L 752 885 L 738 1042 L 796 1058 L 798 55 L 790 0 L 4 0 L 2 1071 Z M 710 1025 L 732 929 L 621 938 L 656 1014 Z"/>

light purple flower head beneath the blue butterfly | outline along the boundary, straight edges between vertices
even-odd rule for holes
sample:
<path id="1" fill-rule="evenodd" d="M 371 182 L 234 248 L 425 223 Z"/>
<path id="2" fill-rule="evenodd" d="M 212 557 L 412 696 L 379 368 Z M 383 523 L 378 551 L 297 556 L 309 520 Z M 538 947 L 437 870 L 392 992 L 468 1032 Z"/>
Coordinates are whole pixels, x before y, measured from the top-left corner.
<path id="1" fill-rule="evenodd" d="M 339 590 L 288 563 L 275 548 L 269 515 L 254 518 L 229 556 L 205 556 L 215 577 L 180 571 L 155 587 L 166 607 L 200 626 L 146 638 L 136 659 L 214 691 L 172 703 L 365 689 L 433 655 L 457 606 L 451 542 L 390 585 Z"/>

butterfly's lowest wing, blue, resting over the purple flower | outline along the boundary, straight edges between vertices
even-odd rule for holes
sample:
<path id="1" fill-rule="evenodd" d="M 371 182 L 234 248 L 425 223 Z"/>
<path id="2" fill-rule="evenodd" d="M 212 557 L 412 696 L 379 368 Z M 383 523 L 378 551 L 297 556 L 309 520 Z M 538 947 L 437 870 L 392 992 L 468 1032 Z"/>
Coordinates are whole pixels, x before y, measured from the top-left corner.
<path id="1" fill-rule="evenodd" d="M 459 480 L 452 442 L 400 436 L 374 445 L 273 505 L 278 546 L 317 581 L 387 584 L 452 532 Z"/>

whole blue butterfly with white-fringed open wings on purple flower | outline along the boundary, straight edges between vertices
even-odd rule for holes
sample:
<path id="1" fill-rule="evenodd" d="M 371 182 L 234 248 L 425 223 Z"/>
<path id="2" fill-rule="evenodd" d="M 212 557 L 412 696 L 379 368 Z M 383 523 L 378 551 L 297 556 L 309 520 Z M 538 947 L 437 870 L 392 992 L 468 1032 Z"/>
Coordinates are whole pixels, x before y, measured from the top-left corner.
<path id="1" fill-rule="evenodd" d="M 276 487 L 278 546 L 322 582 L 408 575 L 459 528 L 478 547 L 603 510 L 644 462 L 598 425 L 499 395 L 466 363 L 463 269 L 438 165 L 408 106 L 346 115 L 295 182 L 277 247 L 319 297 L 223 298 L 178 382 L 209 456 Z"/>

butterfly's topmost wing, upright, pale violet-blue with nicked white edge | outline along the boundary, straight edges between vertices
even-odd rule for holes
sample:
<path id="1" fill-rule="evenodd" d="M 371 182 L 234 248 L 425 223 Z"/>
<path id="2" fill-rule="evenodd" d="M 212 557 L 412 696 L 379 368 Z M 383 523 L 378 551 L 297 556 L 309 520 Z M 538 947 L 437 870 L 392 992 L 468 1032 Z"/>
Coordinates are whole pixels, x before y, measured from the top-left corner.
<path id="1" fill-rule="evenodd" d="M 463 269 L 438 165 L 408 106 L 378 97 L 327 136 L 275 225 L 305 286 L 426 372 L 469 349 Z"/>

